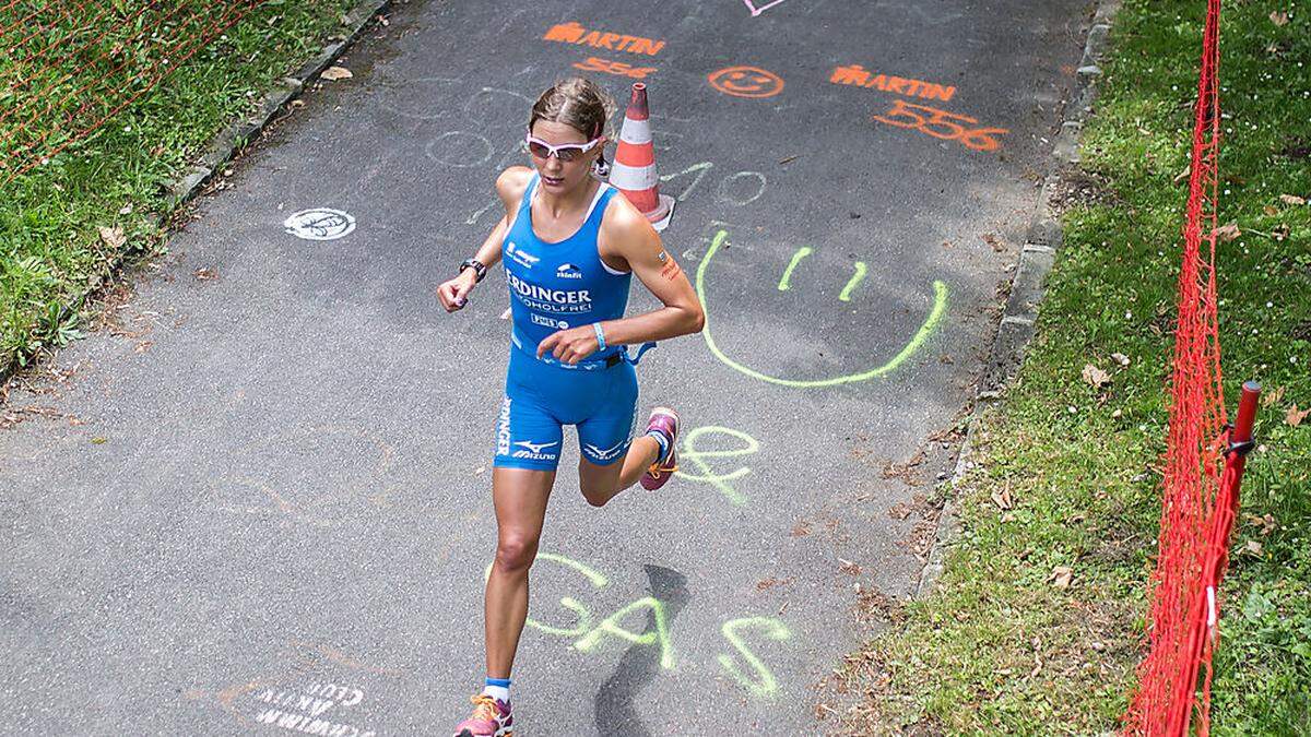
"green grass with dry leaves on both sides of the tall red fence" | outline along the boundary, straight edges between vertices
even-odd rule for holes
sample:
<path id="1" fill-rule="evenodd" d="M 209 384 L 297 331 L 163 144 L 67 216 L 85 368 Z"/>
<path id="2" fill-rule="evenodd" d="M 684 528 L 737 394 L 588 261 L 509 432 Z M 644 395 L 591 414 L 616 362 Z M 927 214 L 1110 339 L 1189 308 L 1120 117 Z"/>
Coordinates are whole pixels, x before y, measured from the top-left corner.
<path id="1" fill-rule="evenodd" d="M 1291 10 L 1277 25 L 1272 12 Z M 940 589 L 842 667 L 863 694 L 844 730 L 1095 733 L 1114 729 L 1142 657 L 1156 552 L 1165 391 L 1203 3 L 1127 0 L 1084 131 L 1089 194 L 1071 203 L 1038 334 L 981 424 L 960 488 L 964 532 Z M 1311 17 L 1227 1 L 1222 22 L 1218 256 L 1230 412 L 1257 422 L 1222 591 L 1217 734 L 1311 734 Z M 1272 233 L 1289 228 L 1282 240 Z M 1121 366 L 1112 354 L 1129 357 Z M 1113 382 L 1080 379 L 1087 363 Z M 992 497 L 1009 494 L 1012 509 Z M 1273 525 L 1262 518 L 1269 515 Z M 1068 588 L 1053 569 L 1068 567 Z M 911 727 L 918 725 L 918 727 Z"/>

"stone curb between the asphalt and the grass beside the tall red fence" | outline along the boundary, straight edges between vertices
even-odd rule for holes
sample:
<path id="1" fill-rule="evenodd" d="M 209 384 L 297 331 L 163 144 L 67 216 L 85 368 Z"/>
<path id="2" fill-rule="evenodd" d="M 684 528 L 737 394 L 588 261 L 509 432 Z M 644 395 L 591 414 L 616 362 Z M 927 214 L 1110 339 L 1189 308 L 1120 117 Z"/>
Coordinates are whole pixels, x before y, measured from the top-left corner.
<path id="1" fill-rule="evenodd" d="M 1011 294 L 1002 312 L 996 336 L 992 338 L 991 357 L 975 389 L 974 408 L 970 412 L 965 442 L 961 443 L 961 452 L 956 458 L 956 468 L 950 477 L 943 481 L 947 498 L 937 518 L 937 534 L 929 548 L 928 561 L 924 564 L 915 588 L 915 598 L 923 598 L 933 591 L 943 574 L 944 551 L 961 534 L 954 492 L 965 473 L 974 467 L 970 456 L 977 443 L 975 433 L 979 418 L 987 408 L 1002 399 L 1002 388 L 1019 371 L 1024 362 L 1025 349 L 1033 338 L 1038 306 L 1046 292 L 1044 282 L 1051 270 L 1055 252 L 1061 248 L 1063 237 L 1051 202 L 1059 193 L 1062 167 L 1079 163 L 1079 138 L 1083 132 L 1083 121 L 1092 113 L 1092 102 L 1097 96 L 1096 81 L 1101 76 L 1101 67 L 1097 64 L 1103 51 L 1105 51 L 1110 21 L 1120 9 L 1120 3 L 1121 0 L 1101 0 L 1093 13 L 1092 25 L 1088 28 L 1083 59 L 1080 59 L 1076 71 L 1075 88 L 1071 90 L 1070 102 L 1066 106 L 1066 119 L 1062 121 L 1061 131 L 1053 142 L 1051 170 L 1047 172 L 1042 182 L 1033 222 L 1025 233 L 1024 248 L 1020 249 L 1020 261 L 1011 278 Z"/>

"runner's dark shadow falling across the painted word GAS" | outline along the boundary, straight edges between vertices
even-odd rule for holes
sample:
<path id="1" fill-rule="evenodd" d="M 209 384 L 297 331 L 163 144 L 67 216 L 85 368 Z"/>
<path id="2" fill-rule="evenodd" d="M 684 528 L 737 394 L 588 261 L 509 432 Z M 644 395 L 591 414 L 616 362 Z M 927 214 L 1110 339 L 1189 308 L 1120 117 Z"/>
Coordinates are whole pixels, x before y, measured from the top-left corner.
<path id="1" fill-rule="evenodd" d="M 691 598 L 687 577 L 682 573 L 646 565 L 652 595 L 665 605 L 665 626 L 673 629 L 674 619 Z M 648 611 L 645 632 L 656 631 L 656 612 Z M 632 644 L 619 658 L 615 673 L 600 686 L 595 699 L 597 730 L 603 736 L 650 737 L 633 708 L 633 699 L 659 673 L 661 648 L 657 644 Z"/>

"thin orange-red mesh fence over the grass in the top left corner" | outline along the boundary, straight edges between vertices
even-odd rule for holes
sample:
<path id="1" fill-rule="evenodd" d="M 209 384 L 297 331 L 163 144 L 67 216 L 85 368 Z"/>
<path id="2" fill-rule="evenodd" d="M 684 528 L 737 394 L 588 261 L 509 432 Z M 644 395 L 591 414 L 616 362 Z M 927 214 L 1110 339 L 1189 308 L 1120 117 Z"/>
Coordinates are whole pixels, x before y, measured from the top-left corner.
<path id="1" fill-rule="evenodd" d="M 155 89 L 265 0 L 0 0 L 0 188 Z"/>

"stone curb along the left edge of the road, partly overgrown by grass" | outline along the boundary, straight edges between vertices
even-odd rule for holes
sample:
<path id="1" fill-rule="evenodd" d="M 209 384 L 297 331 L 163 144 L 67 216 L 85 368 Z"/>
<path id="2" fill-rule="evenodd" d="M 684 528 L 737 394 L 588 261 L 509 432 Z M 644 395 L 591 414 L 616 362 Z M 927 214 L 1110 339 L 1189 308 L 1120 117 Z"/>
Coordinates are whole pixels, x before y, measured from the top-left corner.
<path id="1" fill-rule="evenodd" d="M 361 0 L 359 4 L 345 14 L 345 25 L 350 29 L 350 34 L 345 41 L 329 45 L 317 56 L 302 66 L 292 76 L 278 80 L 277 87 L 260 98 L 260 108 L 257 110 L 223 129 L 219 135 L 214 136 L 206 147 L 206 152 L 201 156 L 199 163 L 191 165 L 186 173 L 165 185 L 165 190 L 168 191 L 166 207 L 164 209 L 164 212 L 160 214 L 157 224 L 166 228 L 169 219 L 177 212 L 177 209 L 194 199 L 195 195 L 201 193 L 202 188 L 205 188 L 205 185 L 214 177 L 215 172 L 220 170 L 224 164 L 236 156 L 241 147 L 258 135 L 260 131 L 262 131 L 273 121 L 273 117 L 283 109 L 283 106 L 296 97 L 300 97 L 305 85 L 317 79 L 329 64 L 336 62 L 342 52 L 346 51 L 346 49 L 359 39 L 359 37 L 364 33 L 364 28 L 371 20 L 374 20 L 375 16 L 387 12 L 391 7 L 391 1 L 392 0 Z M 122 262 L 123 260 L 118 258 L 109 264 L 108 271 L 113 274 L 113 271 L 115 271 Z M 64 304 L 59 309 L 58 320 L 62 323 L 68 317 L 68 315 L 81 309 L 87 298 L 104 286 L 104 283 L 105 281 L 102 279 L 97 283 L 97 286 L 79 295 L 77 299 Z M 18 370 L 20 366 L 17 361 L 9 362 L 7 366 L 0 366 L 0 386 L 13 378 Z"/>

